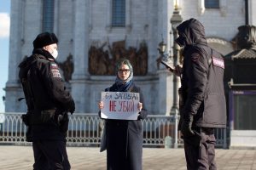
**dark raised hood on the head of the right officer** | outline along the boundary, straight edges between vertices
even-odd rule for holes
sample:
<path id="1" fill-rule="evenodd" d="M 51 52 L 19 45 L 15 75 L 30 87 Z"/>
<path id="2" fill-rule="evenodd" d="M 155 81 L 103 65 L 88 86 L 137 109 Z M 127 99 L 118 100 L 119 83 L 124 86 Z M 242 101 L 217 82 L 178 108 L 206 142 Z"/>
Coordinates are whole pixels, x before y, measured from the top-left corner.
<path id="1" fill-rule="evenodd" d="M 191 18 L 183 21 L 177 26 L 179 37 L 176 42 L 180 46 L 190 46 L 195 44 L 207 45 L 207 38 L 205 37 L 205 28 L 199 20 Z"/>

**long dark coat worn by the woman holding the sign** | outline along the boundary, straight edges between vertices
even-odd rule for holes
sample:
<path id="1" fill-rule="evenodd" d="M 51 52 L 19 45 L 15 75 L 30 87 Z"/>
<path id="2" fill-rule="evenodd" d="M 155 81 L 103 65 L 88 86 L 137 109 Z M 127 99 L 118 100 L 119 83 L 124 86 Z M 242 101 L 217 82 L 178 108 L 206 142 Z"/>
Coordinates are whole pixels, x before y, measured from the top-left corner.
<path id="1" fill-rule="evenodd" d="M 108 91 L 116 92 L 116 84 L 108 88 Z M 140 102 L 143 103 L 143 94 L 133 82 L 129 92 L 140 93 Z M 146 116 L 148 112 L 143 106 L 137 121 L 106 120 L 108 169 L 142 169 L 143 129 L 140 120 Z"/>

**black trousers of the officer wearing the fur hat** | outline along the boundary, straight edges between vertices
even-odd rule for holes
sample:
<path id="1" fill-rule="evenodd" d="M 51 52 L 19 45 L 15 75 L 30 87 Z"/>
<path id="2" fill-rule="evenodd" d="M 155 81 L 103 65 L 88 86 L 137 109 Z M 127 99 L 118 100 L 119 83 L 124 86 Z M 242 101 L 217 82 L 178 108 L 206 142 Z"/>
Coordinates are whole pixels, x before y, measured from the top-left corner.
<path id="1" fill-rule="evenodd" d="M 64 141 L 33 142 L 34 170 L 70 170 Z"/>

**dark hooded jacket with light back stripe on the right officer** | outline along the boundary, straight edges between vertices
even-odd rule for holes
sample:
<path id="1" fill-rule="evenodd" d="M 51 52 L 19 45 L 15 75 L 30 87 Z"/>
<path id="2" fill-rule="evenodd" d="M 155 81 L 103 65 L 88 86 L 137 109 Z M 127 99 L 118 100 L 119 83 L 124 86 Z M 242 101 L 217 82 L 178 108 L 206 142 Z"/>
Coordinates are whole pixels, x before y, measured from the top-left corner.
<path id="1" fill-rule="evenodd" d="M 195 126 L 226 127 L 222 55 L 207 46 L 204 27 L 197 20 L 184 22 L 177 31 L 185 44 L 182 119 L 193 115 Z"/>

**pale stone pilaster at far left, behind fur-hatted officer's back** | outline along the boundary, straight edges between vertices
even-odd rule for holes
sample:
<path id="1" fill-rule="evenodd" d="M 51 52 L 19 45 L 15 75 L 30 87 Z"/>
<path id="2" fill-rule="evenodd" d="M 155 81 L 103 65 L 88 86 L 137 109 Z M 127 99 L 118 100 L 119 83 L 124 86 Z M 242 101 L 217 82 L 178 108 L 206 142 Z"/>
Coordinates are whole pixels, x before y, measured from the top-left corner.
<path id="1" fill-rule="evenodd" d="M 20 108 L 20 102 L 18 102 L 19 96 L 22 97 L 20 83 L 18 81 L 21 55 L 21 35 L 22 35 L 22 11 L 23 1 L 11 1 L 11 23 L 10 23 L 10 37 L 9 37 L 9 74 L 6 87 L 4 88 L 5 94 L 5 111 L 25 111 L 26 108 Z"/>

